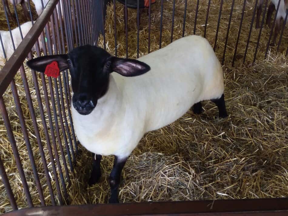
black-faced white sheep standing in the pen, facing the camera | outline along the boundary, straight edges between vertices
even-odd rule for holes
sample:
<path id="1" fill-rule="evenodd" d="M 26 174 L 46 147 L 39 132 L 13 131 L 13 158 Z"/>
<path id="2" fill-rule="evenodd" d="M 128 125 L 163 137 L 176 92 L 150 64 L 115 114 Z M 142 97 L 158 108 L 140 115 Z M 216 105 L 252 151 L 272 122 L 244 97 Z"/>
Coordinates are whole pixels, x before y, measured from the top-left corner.
<path id="1" fill-rule="evenodd" d="M 115 156 L 110 203 L 119 202 L 122 169 L 145 133 L 176 121 L 192 106 L 200 114 L 203 100 L 217 105 L 219 117 L 228 116 L 221 64 L 201 36 L 180 38 L 137 60 L 84 45 L 68 54 L 32 59 L 27 65 L 43 73 L 53 62 L 60 71 L 69 68 L 75 133 L 95 154 L 89 185 L 101 177 L 102 155 Z"/>

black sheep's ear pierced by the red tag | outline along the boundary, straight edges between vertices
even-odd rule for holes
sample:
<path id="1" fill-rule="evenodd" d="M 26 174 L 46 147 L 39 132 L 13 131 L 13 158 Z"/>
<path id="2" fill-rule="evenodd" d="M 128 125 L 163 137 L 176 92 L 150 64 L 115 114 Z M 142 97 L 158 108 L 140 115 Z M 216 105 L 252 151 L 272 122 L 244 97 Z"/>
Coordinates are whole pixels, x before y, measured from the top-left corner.
<path id="1" fill-rule="evenodd" d="M 52 61 L 57 61 L 60 71 L 64 71 L 69 68 L 67 61 L 68 55 L 46 55 L 38 58 L 33 58 L 26 62 L 27 66 L 35 71 L 44 73 L 47 65 L 51 64 Z"/>

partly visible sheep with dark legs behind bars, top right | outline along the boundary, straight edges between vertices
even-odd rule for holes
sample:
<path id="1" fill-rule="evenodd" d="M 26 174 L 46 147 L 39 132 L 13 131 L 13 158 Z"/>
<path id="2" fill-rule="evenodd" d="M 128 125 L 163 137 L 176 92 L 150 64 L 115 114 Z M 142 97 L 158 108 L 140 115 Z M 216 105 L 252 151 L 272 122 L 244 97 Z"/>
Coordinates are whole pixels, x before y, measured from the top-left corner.
<path id="1" fill-rule="evenodd" d="M 259 20 L 260 20 L 260 15 L 262 12 L 263 2 L 264 2 L 264 0 L 260 0 L 258 7 L 257 7 L 256 28 L 260 27 L 259 26 Z M 268 7 L 267 17 L 266 17 L 266 25 L 268 24 L 268 26 L 270 28 L 271 28 L 272 13 L 277 8 L 278 2 L 279 2 L 279 0 L 271 0 L 270 5 Z M 271 46 L 274 46 L 276 43 L 276 37 L 280 31 L 280 21 L 281 21 L 281 19 L 283 19 L 283 20 L 285 19 L 287 9 L 288 9 L 288 0 L 280 0 L 278 13 L 276 15 L 276 26 L 275 26 L 275 30 L 274 30 L 274 36 L 273 36 L 272 43 L 270 44 Z"/>

